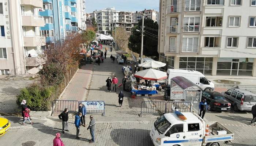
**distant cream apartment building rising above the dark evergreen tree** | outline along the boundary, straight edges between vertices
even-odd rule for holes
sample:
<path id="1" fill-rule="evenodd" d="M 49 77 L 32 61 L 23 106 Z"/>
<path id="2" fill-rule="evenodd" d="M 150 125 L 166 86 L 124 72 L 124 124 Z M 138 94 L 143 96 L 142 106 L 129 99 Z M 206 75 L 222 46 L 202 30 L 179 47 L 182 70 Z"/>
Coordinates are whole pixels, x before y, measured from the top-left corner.
<path id="1" fill-rule="evenodd" d="M 142 19 L 142 14 L 144 12 L 145 19 L 152 19 L 154 22 L 158 22 L 158 12 L 154 9 L 144 9 L 144 11 L 135 12 L 132 14 L 132 22 L 138 23 Z"/>

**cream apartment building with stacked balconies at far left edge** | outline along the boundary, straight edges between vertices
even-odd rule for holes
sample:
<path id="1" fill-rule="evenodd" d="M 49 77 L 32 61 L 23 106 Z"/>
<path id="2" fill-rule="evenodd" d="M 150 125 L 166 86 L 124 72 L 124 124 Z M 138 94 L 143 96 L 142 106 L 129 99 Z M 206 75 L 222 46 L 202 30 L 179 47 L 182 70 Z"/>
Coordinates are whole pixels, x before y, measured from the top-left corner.
<path id="1" fill-rule="evenodd" d="M 38 15 L 42 0 L 0 0 L 0 74 L 37 73 L 38 55 L 45 37 L 39 27 L 44 18 Z"/>

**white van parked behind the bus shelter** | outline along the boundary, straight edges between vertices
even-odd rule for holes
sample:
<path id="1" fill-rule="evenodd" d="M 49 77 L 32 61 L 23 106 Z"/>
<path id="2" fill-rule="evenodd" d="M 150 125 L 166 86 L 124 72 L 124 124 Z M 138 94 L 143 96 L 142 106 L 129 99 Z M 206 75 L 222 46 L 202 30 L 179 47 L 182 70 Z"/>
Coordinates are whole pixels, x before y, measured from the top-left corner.
<path id="1" fill-rule="evenodd" d="M 173 77 L 181 76 L 200 86 L 204 91 L 214 90 L 214 84 L 207 80 L 202 73 L 195 70 L 168 69 L 167 76 L 168 78 L 165 80 L 166 85 L 170 85 L 170 80 Z"/>

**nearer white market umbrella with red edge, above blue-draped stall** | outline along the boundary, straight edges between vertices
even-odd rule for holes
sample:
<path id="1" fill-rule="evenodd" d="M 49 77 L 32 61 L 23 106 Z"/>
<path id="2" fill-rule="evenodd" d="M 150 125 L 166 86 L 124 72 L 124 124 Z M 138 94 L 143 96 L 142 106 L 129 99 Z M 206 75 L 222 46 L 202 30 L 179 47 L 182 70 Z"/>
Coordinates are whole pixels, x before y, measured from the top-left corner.
<path id="1" fill-rule="evenodd" d="M 144 80 L 163 80 L 167 78 L 166 72 L 162 72 L 156 69 L 146 69 L 139 72 L 136 72 L 135 77 L 142 78 Z"/>

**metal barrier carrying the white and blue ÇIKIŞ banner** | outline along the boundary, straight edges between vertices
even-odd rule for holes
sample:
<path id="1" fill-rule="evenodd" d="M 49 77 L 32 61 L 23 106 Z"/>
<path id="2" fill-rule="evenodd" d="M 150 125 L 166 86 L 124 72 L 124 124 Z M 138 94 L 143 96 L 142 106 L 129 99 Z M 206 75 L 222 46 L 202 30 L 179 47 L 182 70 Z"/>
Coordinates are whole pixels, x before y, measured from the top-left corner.
<path id="1" fill-rule="evenodd" d="M 83 103 L 84 105 L 86 105 L 86 113 L 87 114 L 88 113 L 103 113 L 103 116 L 105 116 L 105 101 L 79 101 L 79 104 L 80 103 Z M 90 107 L 90 105 L 94 105 L 94 106 Z"/>

